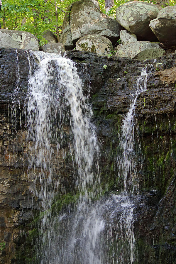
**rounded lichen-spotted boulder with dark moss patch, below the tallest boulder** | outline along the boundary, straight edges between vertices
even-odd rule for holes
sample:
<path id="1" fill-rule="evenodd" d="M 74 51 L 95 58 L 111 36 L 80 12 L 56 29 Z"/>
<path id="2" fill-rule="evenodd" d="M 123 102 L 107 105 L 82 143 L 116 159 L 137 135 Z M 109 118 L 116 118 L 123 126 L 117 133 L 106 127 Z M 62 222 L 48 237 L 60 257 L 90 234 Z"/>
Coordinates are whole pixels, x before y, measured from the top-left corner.
<path id="1" fill-rule="evenodd" d="M 76 43 L 77 50 L 92 51 L 99 55 L 111 54 L 113 50 L 112 42 L 101 35 L 86 35 Z"/>

